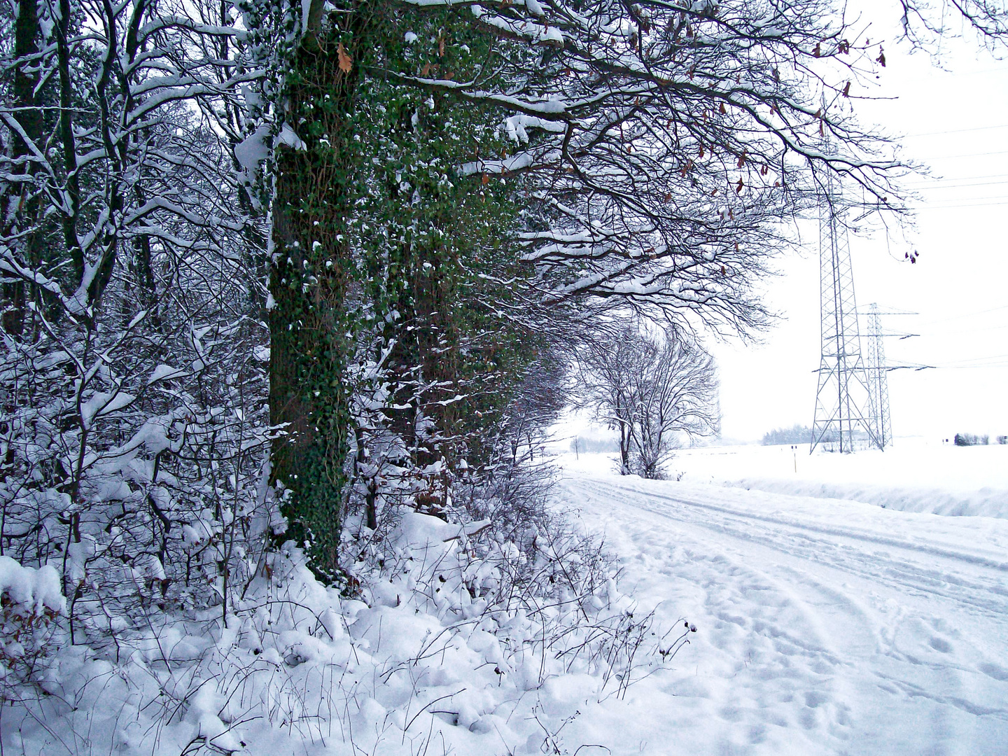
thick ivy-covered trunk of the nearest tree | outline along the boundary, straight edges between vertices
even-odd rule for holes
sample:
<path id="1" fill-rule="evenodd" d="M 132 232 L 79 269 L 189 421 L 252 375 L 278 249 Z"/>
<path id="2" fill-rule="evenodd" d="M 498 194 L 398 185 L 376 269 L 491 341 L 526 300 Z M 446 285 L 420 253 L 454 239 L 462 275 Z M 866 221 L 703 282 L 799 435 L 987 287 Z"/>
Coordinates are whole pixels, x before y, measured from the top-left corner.
<path id="1" fill-rule="evenodd" d="M 312 569 L 335 580 L 349 427 L 344 304 L 359 191 L 352 55 L 366 43 L 367 22 L 353 12 L 325 30 L 318 18 L 310 23 L 287 76 L 276 153 L 269 403 L 271 422 L 286 430 L 273 448 L 273 479 L 287 491 L 287 536 L 306 543 Z"/>

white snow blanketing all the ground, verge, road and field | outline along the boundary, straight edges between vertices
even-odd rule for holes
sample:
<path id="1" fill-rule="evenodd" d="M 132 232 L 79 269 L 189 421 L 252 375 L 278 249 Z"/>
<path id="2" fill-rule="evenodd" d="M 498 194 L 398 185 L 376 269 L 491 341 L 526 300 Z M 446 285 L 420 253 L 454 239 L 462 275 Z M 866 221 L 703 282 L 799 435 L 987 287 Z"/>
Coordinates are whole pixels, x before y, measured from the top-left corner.
<path id="1" fill-rule="evenodd" d="M 604 535 L 621 575 L 545 610 L 488 606 L 486 590 L 523 557 L 502 543 L 498 560 L 474 558 L 486 520 L 403 509 L 361 600 L 318 583 L 288 545 L 226 618 L 161 617 L 114 654 L 51 644 L 37 668 L 54 695 L 27 697 L 31 714 L 8 707 L 4 745 L 64 753 L 56 733 L 82 753 L 152 756 L 201 743 L 320 756 L 1003 753 L 1008 518 L 909 509 L 929 506 L 927 492 L 974 501 L 1004 485 L 1004 450 L 687 450 L 673 463 L 680 481 L 563 455 L 555 505 Z M 795 459 L 803 477 L 791 480 Z M 917 498 L 897 511 L 725 485 L 754 474 L 768 489 Z M 205 514 L 183 534 L 194 547 L 216 532 Z M 80 579 L 90 544 L 71 546 Z M 581 558 L 545 541 L 533 553 L 543 579 Z M 163 576 L 154 558 L 133 571 L 139 583 Z M 59 588 L 51 566 L 0 556 L 10 601 L 65 611 Z M 598 651 L 618 657 L 639 639 L 634 665 L 598 664 L 571 624 L 581 616 L 626 641 Z M 562 629 L 548 651 L 546 627 Z"/>

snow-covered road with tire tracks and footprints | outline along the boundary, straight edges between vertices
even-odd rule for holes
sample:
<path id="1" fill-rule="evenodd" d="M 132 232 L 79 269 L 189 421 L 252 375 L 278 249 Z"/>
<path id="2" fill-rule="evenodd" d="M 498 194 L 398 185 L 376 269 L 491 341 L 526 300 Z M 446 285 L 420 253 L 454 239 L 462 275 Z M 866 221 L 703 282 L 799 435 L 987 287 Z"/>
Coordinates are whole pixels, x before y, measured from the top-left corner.
<path id="1" fill-rule="evenodd" d="M 558 498 L 606 532 L 624 592 L 699 630 L 581 742 L 1008 754 L 1008 521 L 584 473 Z"/>

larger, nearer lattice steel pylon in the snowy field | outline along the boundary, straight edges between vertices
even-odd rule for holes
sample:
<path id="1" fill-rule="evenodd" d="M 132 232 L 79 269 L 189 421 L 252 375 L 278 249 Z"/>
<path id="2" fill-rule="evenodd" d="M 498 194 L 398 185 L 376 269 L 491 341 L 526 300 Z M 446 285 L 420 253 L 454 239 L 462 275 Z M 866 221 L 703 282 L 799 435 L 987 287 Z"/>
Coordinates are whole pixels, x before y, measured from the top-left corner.
<path id="1" fill-rule="evenodd" d="M 826 176 L 820 206 L 820 302 L 822 344 L 815 418 L 809 454 L 820 444 L 853 452 L 855 437 L 882 448 L 863 407 L 870 401 L 868 373 L 861 354 L 858 305 L 854 296 L 851 248 L 834 178 Z"/>

